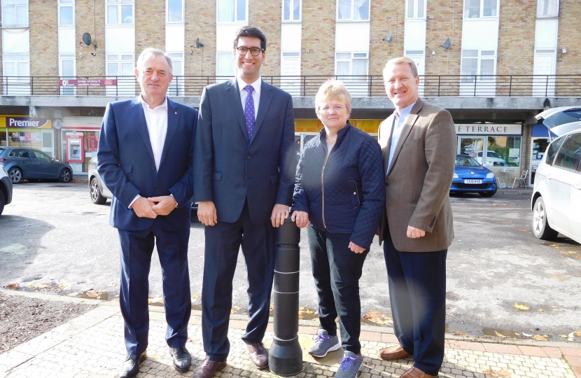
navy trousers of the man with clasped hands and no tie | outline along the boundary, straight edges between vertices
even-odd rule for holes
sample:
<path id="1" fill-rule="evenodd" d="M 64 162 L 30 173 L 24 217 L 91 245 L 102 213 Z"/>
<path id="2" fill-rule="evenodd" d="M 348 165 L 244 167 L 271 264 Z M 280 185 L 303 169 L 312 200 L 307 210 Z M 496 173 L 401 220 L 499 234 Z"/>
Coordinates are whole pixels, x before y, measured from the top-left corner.
<path id="1" fill-rule="evenodd" d="M 127 354 L 141 354 L 148 345 L 148 279 L 154 244 L 158 248 L 162 268 L 167 345 L 178 348 L 186 345 L 188 339 L 188 321 L 192 311 L 188 271 L 190 229 L 169 232 L 156 224 L 153 223 L 147 230 L 118 230 L 121 243 L 119 302 L 125 321 Z"/>

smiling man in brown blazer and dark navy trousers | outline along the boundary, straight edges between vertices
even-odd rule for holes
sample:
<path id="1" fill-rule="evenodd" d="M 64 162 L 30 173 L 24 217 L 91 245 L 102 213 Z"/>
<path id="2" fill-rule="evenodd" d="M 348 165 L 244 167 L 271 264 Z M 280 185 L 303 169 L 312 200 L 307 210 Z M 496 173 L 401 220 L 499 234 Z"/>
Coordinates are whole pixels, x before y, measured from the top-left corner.
<path id="1" fill-rule="evenodd" d="M 384 241 L 393 329 L 399 345 L 381 349 L 384 360 L 414 357 L 402 378 L 436 377 L 444 359 L 446 255 L 454 239 L 449 189 L 456 158 L 450 113 L 419 99 L 411 59 L 384 69 L 386 93 L 395 106 L 379 125 L 386 170 Z"/>

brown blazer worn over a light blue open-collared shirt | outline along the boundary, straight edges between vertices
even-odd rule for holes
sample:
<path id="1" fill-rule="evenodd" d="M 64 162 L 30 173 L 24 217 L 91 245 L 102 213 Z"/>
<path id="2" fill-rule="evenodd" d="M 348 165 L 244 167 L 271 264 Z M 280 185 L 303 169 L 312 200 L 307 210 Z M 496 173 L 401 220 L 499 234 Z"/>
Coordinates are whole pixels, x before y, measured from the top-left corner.
<path id="1" fill-rule="evenodd" d="M 379 145 L 387 169 L 395 112 L 379 125 Z M 402 126 L 385 179 L 386 211 L 379 225 L 379 244 L 386 222 L 395 249 L 433 252 L 454 239 L 449 190 L 456 160 L 456 130 L 450 113 L 418 99 Z M 426 231 L 410 239 L 407 226 Z"/>

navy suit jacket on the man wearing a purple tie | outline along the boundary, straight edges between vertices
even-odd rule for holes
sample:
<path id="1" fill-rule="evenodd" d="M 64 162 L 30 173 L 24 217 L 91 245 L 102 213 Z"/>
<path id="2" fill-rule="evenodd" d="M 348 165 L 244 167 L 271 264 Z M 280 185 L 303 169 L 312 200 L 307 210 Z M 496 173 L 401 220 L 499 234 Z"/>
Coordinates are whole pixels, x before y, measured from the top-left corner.
<path id="1" fill-rule="evenodd" d="M 195 202 L 213 201 L 218 222 L 237 221 L 248 200 L 255 224 L 269 223 L 274 204 L 293 200 L 295 118 L 290 94 L 262 80 L 248 141 L 236 78 L 204 88 L 194 156 Z"/>

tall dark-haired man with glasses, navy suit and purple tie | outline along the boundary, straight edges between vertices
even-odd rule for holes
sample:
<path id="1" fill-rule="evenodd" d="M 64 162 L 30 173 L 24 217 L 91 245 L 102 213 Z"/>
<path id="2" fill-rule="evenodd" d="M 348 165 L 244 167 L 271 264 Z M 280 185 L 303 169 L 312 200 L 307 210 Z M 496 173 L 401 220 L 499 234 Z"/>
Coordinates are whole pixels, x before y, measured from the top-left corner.
<path id="1" fill-rule="evenodd" d="M 193 377 L 212 377 L 230 351 L 232 277 L 240 246 L 248 271 L 248 325 L 242 337 L 252 363 L 268 365 L 262 346 L 274 276 L 274 230 L 288 217 L 296 157 L 293 99 L 260 78 L 266 37 L 236 33 L 237 77 L 202 93 L 195 141 L 194 200 L 206 225 L 202 336 L 207 359 Z"/>

